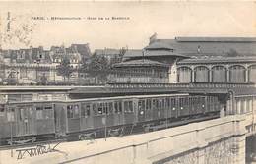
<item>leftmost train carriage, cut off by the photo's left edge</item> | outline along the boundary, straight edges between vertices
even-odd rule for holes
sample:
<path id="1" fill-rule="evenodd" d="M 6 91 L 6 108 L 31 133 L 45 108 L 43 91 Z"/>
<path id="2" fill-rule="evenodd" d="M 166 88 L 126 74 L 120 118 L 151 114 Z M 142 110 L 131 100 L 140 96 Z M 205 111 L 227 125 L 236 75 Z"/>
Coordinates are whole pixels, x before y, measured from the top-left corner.
<path id="1" fill-rule="evenodd" d="M 13 102 L 0 105 L 0 138 L 26 138 L 55 134 L 52 102 Z"/>

